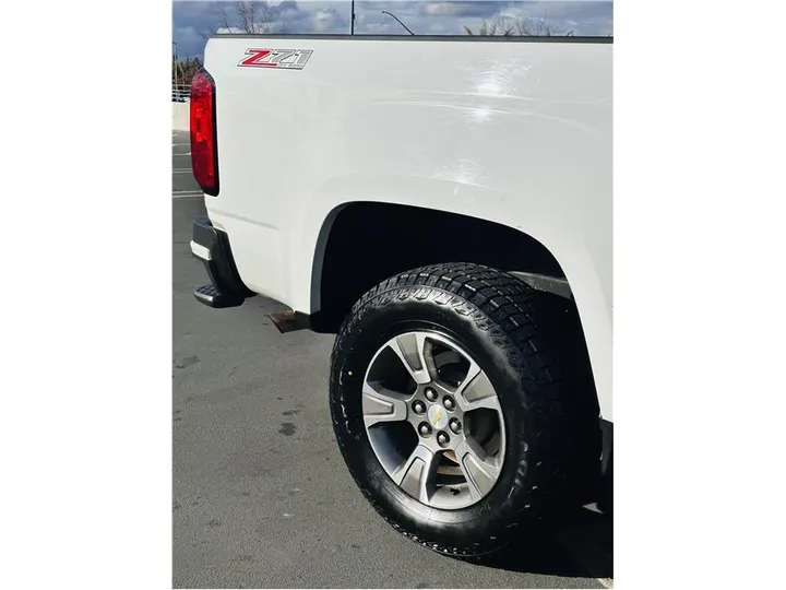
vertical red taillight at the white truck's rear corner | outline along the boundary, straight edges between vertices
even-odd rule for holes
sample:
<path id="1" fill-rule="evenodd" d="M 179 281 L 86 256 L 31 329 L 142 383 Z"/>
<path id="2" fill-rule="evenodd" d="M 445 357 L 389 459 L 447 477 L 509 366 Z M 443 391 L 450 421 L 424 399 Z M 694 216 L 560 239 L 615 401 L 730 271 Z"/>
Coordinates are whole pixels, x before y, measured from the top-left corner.
<path id="1" fill-rule="evenodd" d="M 218 194 L 215 83 L 206 70 L 200 70 L 191 80 L 191 168 L 203 191 Z"/>

